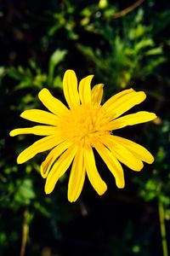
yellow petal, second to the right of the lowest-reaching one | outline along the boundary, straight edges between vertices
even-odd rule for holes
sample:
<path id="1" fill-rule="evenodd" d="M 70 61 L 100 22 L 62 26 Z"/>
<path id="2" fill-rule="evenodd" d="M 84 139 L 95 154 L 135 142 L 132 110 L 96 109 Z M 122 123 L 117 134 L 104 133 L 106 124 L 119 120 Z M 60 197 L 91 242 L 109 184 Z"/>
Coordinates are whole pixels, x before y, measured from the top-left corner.
<path id="1" fill-rule="evenodd" d="M 98 151 L 101 158 L 105 161 L 106 166 L 108 166 L 109 170 L 115 177 L 116 186 L 119 189 L 124 188 L 125 181 L 122 166 L 119 163 L 119 161 L 116 160 L 114 154 L 112 154 L 108 148 L 105 148 L 105 146 L 102 143 L 98 143 L 97 145 L 95 145 L 95 148 Z"/>

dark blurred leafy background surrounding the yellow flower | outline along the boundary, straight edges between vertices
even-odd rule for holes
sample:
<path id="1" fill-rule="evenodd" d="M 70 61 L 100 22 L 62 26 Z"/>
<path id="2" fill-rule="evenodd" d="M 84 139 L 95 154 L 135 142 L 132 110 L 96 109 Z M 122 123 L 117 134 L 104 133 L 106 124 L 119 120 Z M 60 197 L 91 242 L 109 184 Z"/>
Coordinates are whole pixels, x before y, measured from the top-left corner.
<path id="1" fill-rule="evenodd" d="M 0 255 L 170 255 L 170 2 L 168 0 L 0 1 Z M 133 87 L 147 99 L 133 112 L 158 119 L 116 131 L 148 148 L 151 166 L 123 166 L 125 189 L 97 156 L 108 184 L 99 196 L 88 182 L 76 203 L 67 201 L 69 172 L 45 195 L 39 166 L 47 153 L 18 166 L 17 155 L 37 140 L 9 137 L 30 108 L 42 108 L 46 87 L 65 102 L 62 78 L 94 74 L 104 101 Z M 165 234 L 166 232 L 166 234 Z"/>

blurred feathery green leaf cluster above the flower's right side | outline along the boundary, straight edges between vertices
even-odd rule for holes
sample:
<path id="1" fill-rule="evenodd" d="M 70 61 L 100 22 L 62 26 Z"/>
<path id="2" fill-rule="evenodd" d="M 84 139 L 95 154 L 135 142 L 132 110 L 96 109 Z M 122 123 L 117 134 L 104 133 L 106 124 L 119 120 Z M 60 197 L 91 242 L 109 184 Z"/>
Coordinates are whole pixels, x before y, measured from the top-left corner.
<path id="1" fill-rule="evenodd" d="M 99 49 L 98 45 L 95 49 L 84 44 L 77 45 L 85 57 L 94 62 L 96 72 L 109 78 L 105 83 L 114 81 L 116 88 L 124 89 L 133 80 L 157 76 L 156 67 L 160 67 L 166 57 L 161 45 L 156 45 L 152 38 L 152 25 L 144 24 L 144 10 L 139 9 L 133 19 L 125 17 L 122 28 L 115 29 L 115 25 L 111 21 L 99 27 L 99 22 L 94 22 L 94 32 L 105 40 L 103 49 Z"/>

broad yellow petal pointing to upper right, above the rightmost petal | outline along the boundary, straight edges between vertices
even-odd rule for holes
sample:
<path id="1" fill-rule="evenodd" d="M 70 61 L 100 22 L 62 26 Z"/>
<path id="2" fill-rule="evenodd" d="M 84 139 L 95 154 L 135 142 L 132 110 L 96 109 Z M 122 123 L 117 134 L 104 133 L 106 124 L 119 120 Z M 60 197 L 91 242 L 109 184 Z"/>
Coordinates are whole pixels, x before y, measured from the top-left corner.
<path id="1" fill-rule="evenodd" d="M 116 119 L 122 113 L 143 102 L 145 97 L 144 91 L 135 92 L 131 90 L 127 94 L 118 97 L 115 102 L 104 104 L 102 108 L 108 113 L 110 119 Z"/>

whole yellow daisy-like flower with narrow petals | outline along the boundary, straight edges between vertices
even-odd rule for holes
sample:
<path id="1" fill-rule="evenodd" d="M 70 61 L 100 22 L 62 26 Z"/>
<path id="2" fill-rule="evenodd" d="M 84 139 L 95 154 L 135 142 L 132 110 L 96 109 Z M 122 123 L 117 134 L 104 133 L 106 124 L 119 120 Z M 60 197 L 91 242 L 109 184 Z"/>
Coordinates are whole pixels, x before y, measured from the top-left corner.
<path id="1" fill-rule="evenodd" d="M 69 201 L 77 201 L 82 192 L 86 173 L 99 195 L 103 195 L 107 189 L 105 182 L 99 176 L 93 148 L 105 161 L 116 179 L 118 188 L 124 187 L 120 162 L 133 171 L 140 171 L 143 168 L 143 161 L 151 164 L 154 160 L 144 147 L 114 135 L 116 129 L 156 119 L 155 113 L 146 111 L 120 117 L 122 113 L 144 101 L 146 97 L 144 92 L 133 89 L 123 90 L 101 105 L 103 84 L 96 84 L 91 90 L 93 77 L 89 75 L 82 79 L 78 87 L 76 73 L 67 70 L 63 79 L 63 89 L 69 108 L 44 88 L 38 96 L 50 113 L 31 109 L 20 115 L 24 119 L 44 125 L 14 129 L 10 132 L 12 137 L 19 134 L 45 136 L 21 152 L 17 162 L 22 164 L 37 153 L 51 149 L 41 165 L 42 177 L 47 178 L 46 194 L 54 190 L 59 177 L 62 177 L 71 166 L 68 183 Z"/>

